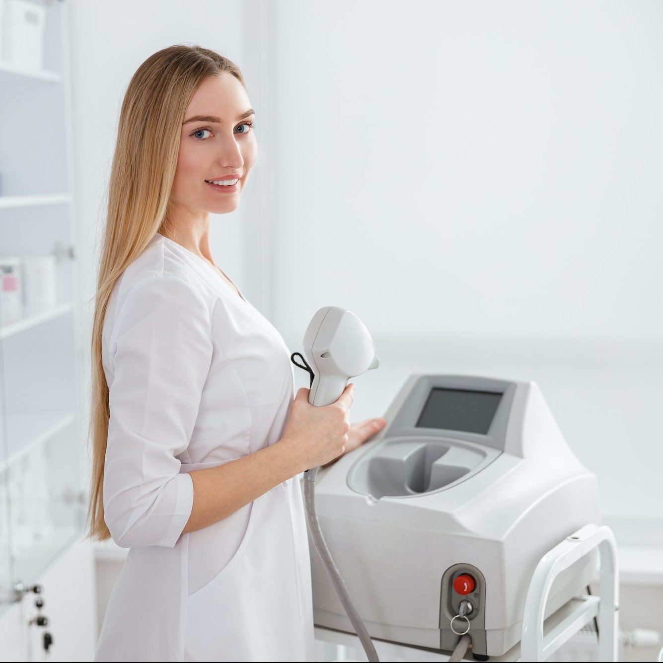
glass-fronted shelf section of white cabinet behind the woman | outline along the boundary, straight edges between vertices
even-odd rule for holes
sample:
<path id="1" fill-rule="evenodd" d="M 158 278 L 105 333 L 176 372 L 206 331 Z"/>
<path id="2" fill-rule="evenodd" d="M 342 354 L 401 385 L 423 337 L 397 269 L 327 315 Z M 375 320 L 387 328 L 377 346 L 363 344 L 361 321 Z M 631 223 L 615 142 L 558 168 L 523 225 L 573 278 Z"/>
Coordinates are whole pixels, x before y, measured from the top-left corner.
<path id="1" fill-rule="evenodd" d="M 0 619 L 15 607 L 15 583 L 34 584 L 84 534 L 88 398 L 72 190 L 69 5 L 0 0 L 0 12 L 10 3 L 0 20 Z M 21 48 L 9 51 L 11 30 Z M 26 51 L 25 40 L 36 36 L 41 62 L 34 48 Z M 7 54 L 24 57 L 23 64 Z M 46 615 L 48 600 L 44 587 Z"/>

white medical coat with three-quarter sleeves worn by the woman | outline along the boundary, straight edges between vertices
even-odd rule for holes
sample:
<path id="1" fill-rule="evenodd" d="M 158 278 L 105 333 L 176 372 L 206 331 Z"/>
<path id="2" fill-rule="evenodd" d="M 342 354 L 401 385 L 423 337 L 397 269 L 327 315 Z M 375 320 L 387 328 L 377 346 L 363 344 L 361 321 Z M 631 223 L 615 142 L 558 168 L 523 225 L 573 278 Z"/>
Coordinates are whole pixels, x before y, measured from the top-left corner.
<path id="1" fill-rule="evenodd" d="M 102 349 L 105 521 L 130 550 L 94 660 L 314 661 L 302 475 L 182 534 L 188 471 L 282 436 L 294 379 L 280 333 L 210 263 L 157 234 L 113 290 Z"/>

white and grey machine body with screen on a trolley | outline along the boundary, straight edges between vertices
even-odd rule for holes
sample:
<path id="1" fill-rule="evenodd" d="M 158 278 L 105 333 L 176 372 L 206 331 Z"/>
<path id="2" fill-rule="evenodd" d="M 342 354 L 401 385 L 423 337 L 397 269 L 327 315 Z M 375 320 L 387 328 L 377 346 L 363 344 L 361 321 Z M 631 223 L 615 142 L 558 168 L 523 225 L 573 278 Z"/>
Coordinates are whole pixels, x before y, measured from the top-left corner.
<path id="1" fill-rule="evenodd" d="M 599 524 L 596 477 L 573 455 L 538 385 L 468 375 L 411 375 L 373 440 L 320 469 L 320 526 L 373 638 L 452 650 L 469 599 L 474 654 L 520 640 L 536 564 Z M 354 633 L 310 546 L 314 622 Z M 546 617 L 594 579 L 597 557 L 554 583 Z M 475 579 L 468 595 L 453 580 Z M 464 630 L 464 629 L 463 629 Z"/>

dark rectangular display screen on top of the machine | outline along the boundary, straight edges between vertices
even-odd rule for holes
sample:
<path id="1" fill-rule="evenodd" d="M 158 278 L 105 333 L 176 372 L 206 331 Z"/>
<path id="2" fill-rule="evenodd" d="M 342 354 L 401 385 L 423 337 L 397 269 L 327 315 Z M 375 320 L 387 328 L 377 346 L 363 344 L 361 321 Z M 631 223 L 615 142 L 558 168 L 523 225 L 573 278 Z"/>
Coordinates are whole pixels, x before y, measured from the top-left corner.
<path id="1" fill-rule="evenodd" d="M 434 387 L 415 425 L 485 435 L 501 398 L 493 391 Z"/>

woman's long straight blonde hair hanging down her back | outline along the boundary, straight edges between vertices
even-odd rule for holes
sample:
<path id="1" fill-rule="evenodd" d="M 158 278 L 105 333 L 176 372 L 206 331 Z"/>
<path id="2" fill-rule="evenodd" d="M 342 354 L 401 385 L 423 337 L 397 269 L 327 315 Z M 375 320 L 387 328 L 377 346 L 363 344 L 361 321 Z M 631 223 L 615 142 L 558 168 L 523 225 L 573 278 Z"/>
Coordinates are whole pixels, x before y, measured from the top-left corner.
<path id="1" fill-rule="evenodd" d="M 85 538 L 104 541 L 103 467 L 108 436 L 108 385 L 101 331 L 113 287 L 157 232 L 168 228 L 167 209 L 177 168 L 184 113 L 208 76 L 228 73 L 244 86 L 231 60 L 202 46 L 176 44 L 139 66 L 125 92 L 108 187 L 107 219 L 97 274 L 91 337 L 91 408 L 88 442 L 92 471 Z"/>

